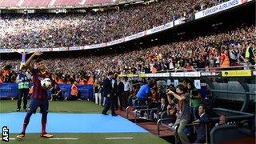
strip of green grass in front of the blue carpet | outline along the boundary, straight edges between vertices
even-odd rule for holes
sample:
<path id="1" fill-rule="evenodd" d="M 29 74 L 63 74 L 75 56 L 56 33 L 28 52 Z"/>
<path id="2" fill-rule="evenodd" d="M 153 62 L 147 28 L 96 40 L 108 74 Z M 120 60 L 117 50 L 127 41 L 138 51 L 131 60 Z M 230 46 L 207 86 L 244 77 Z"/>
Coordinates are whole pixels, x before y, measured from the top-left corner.
<path id="1" fill-rule="evenodd" d="M 15 138 L 16 134 L 10 134 L 10 138 Z M 90 143 L 90 144 L 165 144 L 166 141 L 161 138 L 157 138 L 154 134 L 139 134 L 139 133 L 127 133 L 127 134 L 54 134 L 55 138 L 78 138 L 75 140 L 55 140 L 40 138 L 39 134 L 27 134 L 25 139 L 22 140 L 10 140 L 9 143 Z M 106 138 L 133 138 L 133 139 L 106 139 Z M 0 142 L 1 143 L 1 142 Z"/>

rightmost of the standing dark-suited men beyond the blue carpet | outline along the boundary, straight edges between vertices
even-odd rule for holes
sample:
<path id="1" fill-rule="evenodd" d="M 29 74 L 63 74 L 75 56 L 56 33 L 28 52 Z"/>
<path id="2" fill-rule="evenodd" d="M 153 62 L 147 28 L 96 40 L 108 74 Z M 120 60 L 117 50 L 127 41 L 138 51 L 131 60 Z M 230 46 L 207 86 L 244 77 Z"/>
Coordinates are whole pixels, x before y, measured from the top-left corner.
<path id="1" fill-rule="evenodd" d="M 122 106 L 124 106 L 125 102 L 124 102 L 124 84 L 123 82 L 120 80 L 120 78 L 117 78 L 117 82 L 115 82 L 114 85 L 114 91 L 115 91 L 115 101 L 114 101 L 114 105 L 115 108 L 118 109 L 118 101 L 120 103 L 120 110 L 122 110 Z"/>

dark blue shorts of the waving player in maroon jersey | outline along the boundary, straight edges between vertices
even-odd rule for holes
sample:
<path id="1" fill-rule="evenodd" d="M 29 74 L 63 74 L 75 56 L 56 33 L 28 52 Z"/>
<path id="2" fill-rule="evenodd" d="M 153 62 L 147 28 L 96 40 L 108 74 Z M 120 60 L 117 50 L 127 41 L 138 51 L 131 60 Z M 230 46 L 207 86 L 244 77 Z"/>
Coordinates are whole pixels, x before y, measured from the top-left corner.
<path id="1" fill-rule="evenodd" d="M 28 112 L 36 113 L 38 107 L 40 107 L 40 113 L 45 114 L 48 113 L 49 102 L 47 99 L 34 99 L 30 100 L 30 110 Z"/>

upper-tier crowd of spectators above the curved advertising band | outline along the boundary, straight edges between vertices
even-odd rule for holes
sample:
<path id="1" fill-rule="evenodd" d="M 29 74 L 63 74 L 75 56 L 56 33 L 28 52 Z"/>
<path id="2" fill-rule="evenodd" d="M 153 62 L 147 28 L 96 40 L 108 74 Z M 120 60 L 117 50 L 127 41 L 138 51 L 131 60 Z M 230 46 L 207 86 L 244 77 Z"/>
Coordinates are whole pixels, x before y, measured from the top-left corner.
<path id="1" fill-rule="evenodd" d="M 190 17 L 224 1 L 161 0 L 86 14 L 1 14 L 0 48 L 54 48 L 110 42 Z"/>

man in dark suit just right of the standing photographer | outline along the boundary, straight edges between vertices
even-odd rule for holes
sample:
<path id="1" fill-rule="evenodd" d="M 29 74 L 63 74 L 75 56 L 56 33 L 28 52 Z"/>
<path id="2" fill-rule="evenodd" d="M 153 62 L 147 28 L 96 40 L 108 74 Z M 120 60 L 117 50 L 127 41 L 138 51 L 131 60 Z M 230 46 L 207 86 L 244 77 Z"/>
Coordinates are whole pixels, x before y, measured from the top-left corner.
<path id="1" fill-rule="evenodd" d="M 209 116 L 206 114 L 206 106 L 200 105 L 198 108 L 199 118 L 195 120 L 197 129 L 197 140 L 195 143 L 205 143 L 206 142 L 206 125 L 209 123 Z"/>

